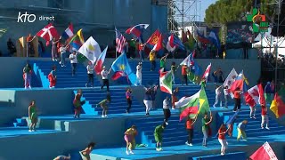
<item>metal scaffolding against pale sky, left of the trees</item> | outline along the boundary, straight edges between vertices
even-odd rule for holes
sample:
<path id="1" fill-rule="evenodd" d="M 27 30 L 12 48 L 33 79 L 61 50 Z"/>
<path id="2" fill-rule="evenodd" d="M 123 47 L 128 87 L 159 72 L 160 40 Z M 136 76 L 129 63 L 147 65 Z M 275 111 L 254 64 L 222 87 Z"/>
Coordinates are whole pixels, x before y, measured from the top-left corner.
<path id="1" fill-rule="evenodd" d="M 201 0 L 167 0 L 167 28 L 170 33 L 186 26 L 200 27 Z"/>

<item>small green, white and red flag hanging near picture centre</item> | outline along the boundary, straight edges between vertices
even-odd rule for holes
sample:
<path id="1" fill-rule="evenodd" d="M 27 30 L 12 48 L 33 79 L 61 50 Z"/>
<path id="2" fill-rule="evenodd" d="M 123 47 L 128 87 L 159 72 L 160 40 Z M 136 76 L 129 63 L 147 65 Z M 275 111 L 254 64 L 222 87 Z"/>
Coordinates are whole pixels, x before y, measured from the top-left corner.
<path id="1" fill-rule="evenodd" d="M 172 94 L 172 75 L 171 71 L 160 72 L 159 76 L 160 91 Z"/>

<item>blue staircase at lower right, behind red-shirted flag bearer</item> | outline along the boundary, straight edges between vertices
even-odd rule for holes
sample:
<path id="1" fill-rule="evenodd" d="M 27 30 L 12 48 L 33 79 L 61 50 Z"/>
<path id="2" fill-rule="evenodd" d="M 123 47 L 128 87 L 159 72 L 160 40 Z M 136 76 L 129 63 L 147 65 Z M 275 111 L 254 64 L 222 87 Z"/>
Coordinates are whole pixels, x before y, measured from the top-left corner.
<path id="1" fill-rule="evenodd" d="M 233 132 L 232 136 L 237 137 L 237 125 L 243 121 L 248 120 L 248 125 L 246 128 L 246 133 L 248 137 L 257 137 L 257 136 L 266 136 L 266 135 L 274 135 L 274 134 L 281 134 L 285 132 L 285 126 L 282 126 L 273 119 L 273 117 L 269 116 L 269 128 L 270 130 L 261 129 L 261 109 L 260 107 L 256 106 L 256 119 L 249 118 L 249 108 L 241 108 L 241 111 L 233 125 Z M 224 116 L 224 122 L 229 119 L 230 116 L 233 115 L 233 112 L 224 112 L 219 113 L 220 116 Z"/>

